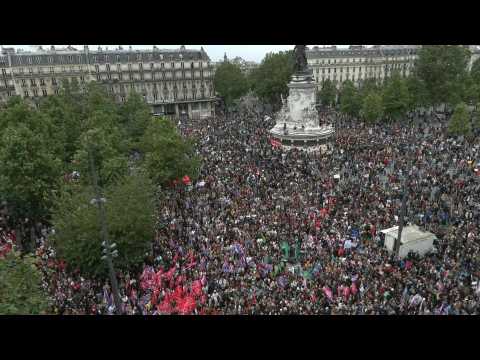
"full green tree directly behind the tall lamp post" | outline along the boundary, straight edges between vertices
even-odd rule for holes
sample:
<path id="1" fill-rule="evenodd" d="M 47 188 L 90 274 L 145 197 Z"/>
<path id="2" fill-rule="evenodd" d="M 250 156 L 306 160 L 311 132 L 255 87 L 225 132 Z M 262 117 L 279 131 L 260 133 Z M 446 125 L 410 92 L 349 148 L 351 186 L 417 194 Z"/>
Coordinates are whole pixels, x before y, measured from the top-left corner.
<path id="1" fill-rule="evenodd" d="M 152 183 L 142 172 L 135 172 L 107 187 L 104 196 L 109 239 L 118 249 L 115 267 L 136 269 L 154 236 Z M 79 184 L 63 191 L 53 213 L 55 234 L 49 241 L 70 269 L 105 277 L 98 208 L 91 203 L 94 197 L 91 187 Z"/>

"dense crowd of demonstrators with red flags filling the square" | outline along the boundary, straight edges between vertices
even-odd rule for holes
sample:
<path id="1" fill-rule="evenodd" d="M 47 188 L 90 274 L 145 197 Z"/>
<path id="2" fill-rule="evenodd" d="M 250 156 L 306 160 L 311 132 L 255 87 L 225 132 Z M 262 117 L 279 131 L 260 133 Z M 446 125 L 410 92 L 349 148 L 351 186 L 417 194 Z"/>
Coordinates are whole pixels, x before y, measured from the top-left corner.
<path id="1" fill-rule="evenodd" d="M 119 274 L 124 313 L 479 314 L 478 139 L 449 138 L 433 115 L 329 112 L 328 151 L 286 151 L 272 117 L 240 107 L 179 124 L 201 175 L 162 191 L 143 272 Z M 406 220 L 438 237 L 422 259 L 396 259 L 380 236 L 398 225 L 404 178 Z M 107 282 L 67 273 L 43 242 L 37 254 L 56 313 L 115 312 Z"/>

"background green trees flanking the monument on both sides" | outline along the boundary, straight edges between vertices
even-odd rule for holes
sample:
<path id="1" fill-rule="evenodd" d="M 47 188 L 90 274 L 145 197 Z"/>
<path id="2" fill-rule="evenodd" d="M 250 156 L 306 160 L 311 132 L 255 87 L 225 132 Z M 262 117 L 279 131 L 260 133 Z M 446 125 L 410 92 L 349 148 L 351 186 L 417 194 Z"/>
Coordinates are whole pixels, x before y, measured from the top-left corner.
<path id="1" fill-rule="evenodd" d="M 383 82 L 368 79 L 360 87 L 345 81 L 339 89 L 326 80 L 318 94 L 319 102 L 338 105 L 343 113 L 372 122 L 399 120 L 419 108 L 444 106 L 447 111 L 458 105 L 462 109 L 462 103 L 476 105 L 480 101 L 480 60 L 469 72 L 470 56 L 463 46 L 423 46 L 411 76 L 403 78 L 393 73 Z M 288 94 L 293 65 L 291 51 L 267 54 L 249 75 L 239 66 L 224 62 L 216 71 L 215 87 L 227 105 L 253 90 L 262 101 L 276 106 L 280 96 Z"/>

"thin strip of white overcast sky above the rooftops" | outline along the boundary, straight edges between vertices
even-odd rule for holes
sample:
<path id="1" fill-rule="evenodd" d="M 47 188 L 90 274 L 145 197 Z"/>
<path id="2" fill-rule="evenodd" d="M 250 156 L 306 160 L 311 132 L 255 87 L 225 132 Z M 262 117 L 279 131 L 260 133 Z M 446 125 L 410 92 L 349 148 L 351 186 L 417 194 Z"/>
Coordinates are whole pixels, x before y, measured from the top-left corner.
<path id="1" fill-rule="evenodd" d="M 23 50 L 33 50 L 33 45 L 3 45 L 4 47 L 15 47 Z M 44 48 L 49 48 L 50 45 L 42 45 Z M 63 47 L 66 45 L 55 45 Z M 83 45 L 73 45 L 77 49 L 83 49 Z M 96 49 L 98 45 L 89 45 L 90 49 Z M 109 49 L 115 49 L 118 45 L 101 45 Z M 129 45 L 121 45 L 124 49 L 128 49 Z M 223 54 L 226 52 L 228 58 L 240 56 L 248 61 L 262 61 L 265 54 L 269 52 L 278 52 L 282 50 L 293 49 L 294 45 L 185 45 L 187 49 L 200 49 L 203 46 L 212 61 L 219 61 L 223 59 Z M 310 45 L 309 45 L 310 46 Z M 311 45 L 314 46 L 314 45 Z M 323 46 L 323 45 L 319 45 Z M 338 45 L 345 47 L 348 45 Z M 151 49 L 153 45 L 132 45 L 134 49 Z M 160 49 L 178 49 L 180 45 L 157 45 Z"/>

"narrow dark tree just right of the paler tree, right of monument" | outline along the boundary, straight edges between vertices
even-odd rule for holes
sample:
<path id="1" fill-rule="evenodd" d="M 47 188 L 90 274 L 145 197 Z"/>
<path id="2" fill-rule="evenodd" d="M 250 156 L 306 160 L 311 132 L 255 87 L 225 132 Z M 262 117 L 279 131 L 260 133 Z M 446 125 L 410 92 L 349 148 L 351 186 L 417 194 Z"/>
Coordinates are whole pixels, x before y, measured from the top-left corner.
<path id="1" fill-rule="evenodd" d="M 407 112 L 410 104 L 408 87 L 405 79 L 398 72 L 386 81 L 383 91 L 385 115 L 395 120 L 400 119 Z"/>

